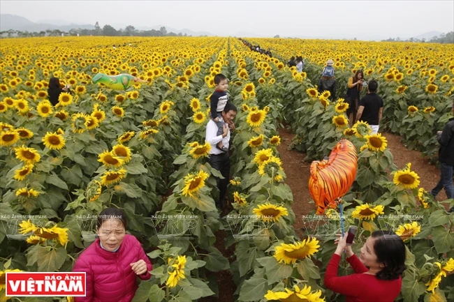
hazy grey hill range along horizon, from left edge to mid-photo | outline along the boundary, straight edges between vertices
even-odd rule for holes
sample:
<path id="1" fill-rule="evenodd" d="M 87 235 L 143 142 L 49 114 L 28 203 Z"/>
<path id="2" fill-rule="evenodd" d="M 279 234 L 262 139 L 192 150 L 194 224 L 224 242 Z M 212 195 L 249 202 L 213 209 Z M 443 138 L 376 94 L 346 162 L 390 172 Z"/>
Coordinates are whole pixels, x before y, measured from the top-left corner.
<path id="1" fill-rule="evenodd" d="M 101 28 L 105 24 L 100 24 Z M 115 29 L 124 29 L 127 25 L 134 24 L 109 24 Z M 135 26 L 134 26 L 135 27 Z M 149 31 L 151 29 L 159 30 L 163 25 L 154 27 L 136 27 L 138 30 Z M 166 26 L 164 26 L 166 27 Z M 30 20 L 17 15 L 1 14 L 0 15 L 0 31 L 8 31 L 14 29 L 17 31 L 45 31 L 46 29 L 59 29 L 60 31 L 69 31 L 70 29 L 94 29 L 92 24 L 69 24 L 64 20 L 41 20 L 39 22 L 31 22 Z M 166 27 L 167 32 L 186 33 L 188 36 L 215 36 L 207 31 L 191 31 L 191 29 L 173 29 Z"/>

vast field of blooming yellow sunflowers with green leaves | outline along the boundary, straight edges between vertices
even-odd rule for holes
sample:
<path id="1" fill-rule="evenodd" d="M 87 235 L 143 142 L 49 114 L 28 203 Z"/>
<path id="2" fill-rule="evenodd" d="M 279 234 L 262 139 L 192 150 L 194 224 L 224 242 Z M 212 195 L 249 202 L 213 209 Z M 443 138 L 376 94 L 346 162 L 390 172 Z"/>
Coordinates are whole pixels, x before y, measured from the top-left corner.
<path id="1" fill-rule="evenodd" d="M 122 38 L 2 40 L 0 301 L 37 301 L 6 297 L 4 274 L 71 271 L 92 242 L 87 222 L 108 206 L 125 211 L 127 231 L 152 259 L 152 278 L 140 282 L 134 301 L 217 301 L 222 271 L 233 275 L 232 301 L 342 301 L 323 286 L 334 241 L 316 239 L 315 228 L 303 236 L 293 228 L 301 218 L 277 151 L 284 124 L 307 160 L 329 155 L 343 137 L 355 144 L 358 173 L 344 196 L 346 227 L 358 226 L 354 248 L 381 227 L 402 236 L 407 271 L 399 301 L 454 299 L 453 215 L 420 188 L 411 163 L 394 165 L 385 137 L 370 135 L 367 123 L 349 128 L 343 98 L 344 83 L 363 69 L 366 80 L 379 80 L 382 130 L 436 160 L 435 133 L 451 117 L 454 99 L 453 45 L 249 40 L 272 50 L 269 57 L 235 38 L 129 40 L 117 49 L 112 45 Z M 302 73 L 286 67 L 295 54 L 305 58 Z M 327 59 L 336 68 L 333 102 L 316 89 Z M 96 73 L 145 82 L 115 91 L 93 84 Z M 238 109 L 228 187 L 233 210 L 226 216 L 214 204 L 220 174 L 207 163 L 205 143 L 218 73 L 228 77 Z M 50 77 L 72 85 L 56 106 L 47 96 Z M 333 234 L 338 214 L 326 213 Z M 420 220 L 390 218 L 409 215 Z M 175 233 L 189 236 L 166 236 L 170 221 Z M 339 271 L 351 273 L 345 263 Z"/>

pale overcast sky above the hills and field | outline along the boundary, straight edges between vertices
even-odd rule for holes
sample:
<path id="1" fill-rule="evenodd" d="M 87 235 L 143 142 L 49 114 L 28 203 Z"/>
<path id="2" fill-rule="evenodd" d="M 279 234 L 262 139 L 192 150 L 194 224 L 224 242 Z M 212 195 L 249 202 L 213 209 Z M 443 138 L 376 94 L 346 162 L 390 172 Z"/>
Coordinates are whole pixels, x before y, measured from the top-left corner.
<path id="1" fill-rule="evenodd" d="M 454 1 L 0 1 L 36 22 L 164 25 L 215 35 L 409 38 L 454 31 Z M 117 27 L 119 29 L 119 27 Z"/>

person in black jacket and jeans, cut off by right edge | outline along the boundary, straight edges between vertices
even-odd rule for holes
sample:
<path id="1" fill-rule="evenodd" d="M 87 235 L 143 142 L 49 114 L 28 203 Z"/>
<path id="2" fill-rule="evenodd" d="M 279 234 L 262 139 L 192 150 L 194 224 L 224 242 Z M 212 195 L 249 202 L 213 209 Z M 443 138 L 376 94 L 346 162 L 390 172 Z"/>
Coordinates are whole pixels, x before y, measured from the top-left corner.
<path id="1" fill-rule="evenodd" d="M 454 115 L 454 103 L 453 103 Z M 454 169 L 454 117 L 449 119 L 443 128 L 443 131 L 437 132 L 440 149 L 438 151 L 438 160 L 440 162 L 441 179 L 437 186 L 432 189 L 434 197 L 438 195 L 442 188 L 446 191 L 449 199 L 454 198 L 453 169 Z M 454 206 L 449 210 L 454 212 Z"/>

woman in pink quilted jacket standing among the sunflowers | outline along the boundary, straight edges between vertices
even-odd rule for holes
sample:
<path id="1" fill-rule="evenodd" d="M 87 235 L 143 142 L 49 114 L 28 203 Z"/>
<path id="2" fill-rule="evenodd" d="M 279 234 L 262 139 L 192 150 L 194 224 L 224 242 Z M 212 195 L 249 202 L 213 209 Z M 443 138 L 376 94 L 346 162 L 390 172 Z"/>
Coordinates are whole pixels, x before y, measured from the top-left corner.
<path id="1" fill-rule="evenodd" d="M 152 264 L 136 237 L 126 234 L 126 215 L 108 208 L 98 216 L 98 239 L 80 254 L 73 271 L 86 273 L 87 296 L 75 302 L 131 302 L 136 275 L 151 278 Z"/>

